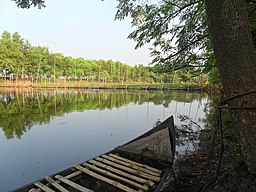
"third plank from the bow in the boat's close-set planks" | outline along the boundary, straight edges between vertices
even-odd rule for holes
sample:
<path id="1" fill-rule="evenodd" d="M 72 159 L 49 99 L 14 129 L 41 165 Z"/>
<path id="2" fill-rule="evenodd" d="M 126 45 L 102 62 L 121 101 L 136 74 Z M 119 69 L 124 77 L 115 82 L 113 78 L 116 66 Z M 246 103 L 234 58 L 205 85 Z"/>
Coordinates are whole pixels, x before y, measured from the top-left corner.
<path id="1" fill-rule="evenodd" d="M 161 180 L 160 177 L 156 177 L 156 176 L 153 176 L 153 175 L 149 175 L 147 173 L 144 173 L 144 172 L 140 172 L 136 169 L 132 169 L 132 168 L 129 168 L 129 167 L 125 167 L 123 165 L 120 165 L 120 164 L 117 164 L 117 163 L 114 163 L 114 162 L 111 162 L 107 159 L 103 159 L 101 157 L 96 157 L 95 158 L 97 161 L 100 161 L 100 162 L 103 162 L 105 164 L 108 164 L 108 165 L 111 165 L 113 167 L 116 167 L 118 169 L 122 169 L 124 171 L 127 171 L 129 173 L 132 173 L 134 175 L 137 175 L 137 176 L 140 176 L 140 177 L 143 177 L 143 178 L 146 178 L 146 179 L 150 179 L 150 180 L 153 180 L 153 181 L 156 181 L 156 182 L 159 182 Z"/>

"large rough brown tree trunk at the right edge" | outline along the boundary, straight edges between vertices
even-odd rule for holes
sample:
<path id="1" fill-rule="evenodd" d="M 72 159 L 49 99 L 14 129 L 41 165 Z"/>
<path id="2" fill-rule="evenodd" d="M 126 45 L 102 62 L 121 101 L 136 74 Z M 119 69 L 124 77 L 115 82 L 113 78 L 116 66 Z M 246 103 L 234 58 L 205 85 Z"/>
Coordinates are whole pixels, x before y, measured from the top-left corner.
<path id="1" fill-rule="evenodd" d="M 208 27 L 226 98 L 256 90 L 256 50 L 245 0 L 205 0 Z M 228 101 L 248 169 L 256 173 L 256 93 Z"/>

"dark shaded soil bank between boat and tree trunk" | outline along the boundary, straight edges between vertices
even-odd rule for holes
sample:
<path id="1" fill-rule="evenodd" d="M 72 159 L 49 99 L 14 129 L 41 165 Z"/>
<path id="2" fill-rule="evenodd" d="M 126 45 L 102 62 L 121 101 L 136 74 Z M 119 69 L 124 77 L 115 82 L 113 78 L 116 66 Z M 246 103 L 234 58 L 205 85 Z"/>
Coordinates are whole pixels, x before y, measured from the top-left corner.
<path id="1" fill-rule="evenodd" d="M 176 157 L 169 182 L 162 191 L 256 191 L 256 175 L 243 163 L 233 130 L 224 130 L 223 137 L 220 131 L 200 131 L 198 149 Z"/>

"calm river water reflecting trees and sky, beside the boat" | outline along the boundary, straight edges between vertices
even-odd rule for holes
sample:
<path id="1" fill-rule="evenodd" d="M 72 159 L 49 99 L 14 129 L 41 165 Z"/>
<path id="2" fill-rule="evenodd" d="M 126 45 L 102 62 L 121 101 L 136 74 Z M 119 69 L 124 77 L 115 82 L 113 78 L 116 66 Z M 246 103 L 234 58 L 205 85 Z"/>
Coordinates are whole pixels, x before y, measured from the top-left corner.
<path id="1" fill-rule="evenodd" d="M 0 89 L 0 191 L 106 152 L 170 115 L 178 127 L 201 129 L 209 101 L 187 92 Z M 183 138 L 177 149 L 191 147 Z"/>

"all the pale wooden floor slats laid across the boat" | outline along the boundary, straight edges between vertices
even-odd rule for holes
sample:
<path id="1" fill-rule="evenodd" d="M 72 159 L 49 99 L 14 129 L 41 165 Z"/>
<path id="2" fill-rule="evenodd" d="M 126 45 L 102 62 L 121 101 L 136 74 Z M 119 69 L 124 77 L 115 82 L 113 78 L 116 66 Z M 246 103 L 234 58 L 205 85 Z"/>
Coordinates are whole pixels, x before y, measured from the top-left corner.
<path id="1" fill-rule="evenodd" d="M 161 180 L 162 170 L 141 164 L 117 154 L 102 155 L 87 162 L 73 166 L 74 172 L 69 175 L 45 177 L 45 182 L 35 182 L 33 192 L 67 192 L 75 189 L 81 192 L 93 192 L 89 186 L 82 186 L 71 180 L 82 174 L 104 182 L 125 192 L 141 192 L 154 189 Z M 86 185 L 86 184 L 85 184 Z M 95 191 L 96 192 L 96 191 Z"/>

